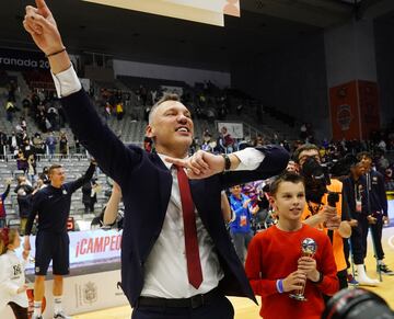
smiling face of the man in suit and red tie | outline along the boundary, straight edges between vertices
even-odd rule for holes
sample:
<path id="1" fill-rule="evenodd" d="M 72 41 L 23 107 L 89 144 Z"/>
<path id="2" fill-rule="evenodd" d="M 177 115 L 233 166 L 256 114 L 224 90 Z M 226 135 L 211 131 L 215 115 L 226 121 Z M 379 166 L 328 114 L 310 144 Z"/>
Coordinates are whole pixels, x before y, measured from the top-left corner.
<path id="1" fill-rule="evenodd" d="M 177 101 L 161 103 L 151 114 L 151 123 L 147 127 L 147 136 L 154 139 L 159 152 L 161 148 L 188 148 L 193 135 L 190 112 Z"/>

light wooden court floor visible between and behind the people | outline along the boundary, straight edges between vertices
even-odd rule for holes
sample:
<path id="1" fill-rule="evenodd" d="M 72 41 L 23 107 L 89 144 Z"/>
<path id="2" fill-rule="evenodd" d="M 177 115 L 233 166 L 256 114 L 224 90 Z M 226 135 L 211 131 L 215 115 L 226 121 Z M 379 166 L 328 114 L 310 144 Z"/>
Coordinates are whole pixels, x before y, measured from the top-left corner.
<path id="1" fill-rule="evenodd" d="M 385 262 L 394 269 L 394 248 L 385 248 L 386 259 Z M 375 260 L 372 255 L 367 259 L 367 269 L 370 277 L 376 278 L 376 273 L 372 270 L 375 269 Z M 370 287 L 378 295 L 382 296 L 394 309 L 394 276 L 383 276 L 383 282 L 379 287 Z M 256 319 L 258 317 L 259 307 L 246 298 L 230 298 L 234 309 L 235 319 Z M 129 306 L 105 309 L 95 312 L 73 316 L 74 319 L 130 319 L 131 309 Z"/>

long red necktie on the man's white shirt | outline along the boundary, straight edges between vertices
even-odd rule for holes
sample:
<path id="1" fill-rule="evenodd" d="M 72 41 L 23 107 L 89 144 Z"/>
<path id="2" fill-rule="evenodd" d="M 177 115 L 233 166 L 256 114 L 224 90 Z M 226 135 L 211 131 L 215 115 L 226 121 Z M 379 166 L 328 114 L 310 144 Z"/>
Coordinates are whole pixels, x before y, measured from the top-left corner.
<path id="1" fill-rule="evenodd" d="M 186 173 L 182 167 L 175 167 L 177 170 L 182 215 L 184 220 L 187 275 L 190 285 L 198 289 L 202 283 L 202 271 L 198 251 L 195 209 Z"/>

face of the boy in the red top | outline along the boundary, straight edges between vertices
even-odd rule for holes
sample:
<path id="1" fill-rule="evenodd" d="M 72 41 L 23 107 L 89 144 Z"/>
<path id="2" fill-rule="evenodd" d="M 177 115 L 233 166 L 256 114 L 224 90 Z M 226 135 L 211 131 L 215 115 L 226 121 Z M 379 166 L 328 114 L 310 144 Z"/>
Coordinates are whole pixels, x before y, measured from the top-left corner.
<path id="1" fill-rule="evenodd" d="M 271 197 L 271 205 L 281 220 L 300 220 L 305 206 L 303 183 L 282 182 Z"/>

